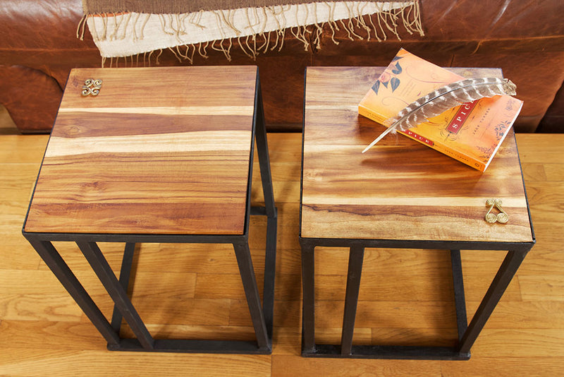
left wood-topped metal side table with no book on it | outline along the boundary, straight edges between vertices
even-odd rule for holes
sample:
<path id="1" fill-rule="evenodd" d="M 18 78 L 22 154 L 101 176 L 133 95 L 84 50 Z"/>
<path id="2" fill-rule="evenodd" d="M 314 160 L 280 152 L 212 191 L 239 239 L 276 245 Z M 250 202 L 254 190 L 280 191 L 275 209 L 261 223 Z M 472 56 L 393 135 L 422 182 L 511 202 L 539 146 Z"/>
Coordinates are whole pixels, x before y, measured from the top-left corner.
<path id="1" fill-rule="evenodd" d="M 251 208 L 255 139 L 264 207 Z M 71 72 L 23 234 L 109 349 L 271 352 L 276 208 L 255 66 L 104 68 Z M 251 215 L 266 215 L 263 301 Z M 74 241 L 111 299 L 111 323 L 52 241 Z M 114 275 L 98 242 L 123 242 Z M 127 294 L 136 243 L 233 244 L 256 342 L 156 340 Z M 122 316 L 135 339 L 120 337 Z"/>

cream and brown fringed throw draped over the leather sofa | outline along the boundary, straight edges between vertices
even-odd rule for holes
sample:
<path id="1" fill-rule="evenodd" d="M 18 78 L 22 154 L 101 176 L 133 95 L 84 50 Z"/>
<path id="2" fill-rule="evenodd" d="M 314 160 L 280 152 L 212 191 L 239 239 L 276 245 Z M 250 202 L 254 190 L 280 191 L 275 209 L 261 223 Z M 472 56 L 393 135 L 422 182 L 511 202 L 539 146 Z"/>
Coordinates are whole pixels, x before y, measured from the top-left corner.
<path id="1" fill-rule="evenodd" d="M 349 40 L 381 42 L 388 34 L 400 40 L 398 27 L 403 25 L 409 34 L 424 36 L 417 0 L 293 2 L 298 4 L 190 13 L 87 13 L 76 35 L 83 40 L 88 26 L 102 55 L 102 66 L 108 61 L 110 66 L 119 66 L 120 58 L 122 66 L 133 66 L 134 60 L 138 65 L 140 55 L 143 66 L 158 65 L 164 49 L 190 64 L 196 54 L 207 59 L 208 48 L 231 61 L 233 40 L 255 60 L 259 54 L 281 51 L 287 32 L 303 43 L 305 51 L 321 49 L 324 30 L 335 44 L 339 44 L 336 32 L 341 30 Z"/>

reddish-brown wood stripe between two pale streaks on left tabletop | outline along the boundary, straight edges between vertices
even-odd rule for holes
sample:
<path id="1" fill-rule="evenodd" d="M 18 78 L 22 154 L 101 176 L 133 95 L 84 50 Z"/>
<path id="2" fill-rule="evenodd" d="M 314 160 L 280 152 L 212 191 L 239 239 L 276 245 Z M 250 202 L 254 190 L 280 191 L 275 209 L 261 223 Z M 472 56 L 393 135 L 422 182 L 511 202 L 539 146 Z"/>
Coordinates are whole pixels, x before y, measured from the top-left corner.
<path id="1" fill-rule="evenodd" d="M 252 117 L 242 115 L 162 115 L 67 112 L 57 116 L 51 136 L 157 135 L 197 131 L 251 131 Z M 213 125 L 213 126 L 210 126 Z"/>

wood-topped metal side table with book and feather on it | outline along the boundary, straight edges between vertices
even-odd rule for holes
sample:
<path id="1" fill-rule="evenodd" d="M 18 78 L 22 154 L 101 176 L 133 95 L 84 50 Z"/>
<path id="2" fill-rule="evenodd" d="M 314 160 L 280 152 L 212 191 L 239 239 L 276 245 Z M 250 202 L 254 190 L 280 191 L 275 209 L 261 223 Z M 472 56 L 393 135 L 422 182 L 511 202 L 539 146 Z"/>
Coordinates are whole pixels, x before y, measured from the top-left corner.
<path id="1" fill-rule="evenodd" d="M 469 359 L 470 348 L 535 242 L 515 135 L 511 131 L 483 174 L 400 135 L 387 136 L 362 154 L 384 127 L 359 116 L 357 104 L 383 70 L 307 68 L 300 200 L 302 355 Z M 459 69 L 458 73 L 470 76 L 501 72 Z M 507 223 L 486 222 L 489 198 L 501 198 L 509 215 Z M 350 249 L 340 345 L 315 342 L 316 246 Z M 367 247 L 450 250 L 458 345 L 353 345 Z M 508 251 L 470 324 L 462 284 L 461 249 Z"/>

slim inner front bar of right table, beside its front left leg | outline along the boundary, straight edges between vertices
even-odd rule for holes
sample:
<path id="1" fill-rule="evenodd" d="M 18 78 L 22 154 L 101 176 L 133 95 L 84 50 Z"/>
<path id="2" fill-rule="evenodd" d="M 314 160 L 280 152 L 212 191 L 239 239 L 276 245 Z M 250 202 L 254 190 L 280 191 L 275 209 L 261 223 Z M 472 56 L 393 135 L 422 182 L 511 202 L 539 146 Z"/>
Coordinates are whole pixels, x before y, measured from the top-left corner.
<path id="1" fill-rule="evenodd" d="M 357 313 L 358 292 L 360 289 L 360 276 L 362 275 L 363 260 L 364 247 L 357 245 L 352 246 L 350 248 L 348 259 L 345 313 L 343 315 L 343 333 L 341 335 L 342 355 L 350 355 L 353 348 L 353 333 L 355 331 L 355 318 Z"/>

